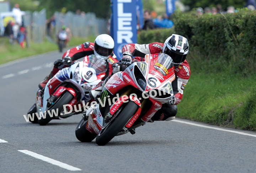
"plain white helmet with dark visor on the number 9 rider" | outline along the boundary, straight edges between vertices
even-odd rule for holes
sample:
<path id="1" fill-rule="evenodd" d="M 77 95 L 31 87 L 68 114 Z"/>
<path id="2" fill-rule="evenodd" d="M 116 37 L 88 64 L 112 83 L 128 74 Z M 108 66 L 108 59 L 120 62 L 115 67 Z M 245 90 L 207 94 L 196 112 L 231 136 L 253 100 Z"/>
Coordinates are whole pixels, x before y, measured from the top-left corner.
<path id="1" fill-rule="evenodd" d="M 94 55 L 102 57 L 105 60 L 112 54 L 114 49 L 114 40 L 108 34 L 101 34 L 94 41 Z"/>

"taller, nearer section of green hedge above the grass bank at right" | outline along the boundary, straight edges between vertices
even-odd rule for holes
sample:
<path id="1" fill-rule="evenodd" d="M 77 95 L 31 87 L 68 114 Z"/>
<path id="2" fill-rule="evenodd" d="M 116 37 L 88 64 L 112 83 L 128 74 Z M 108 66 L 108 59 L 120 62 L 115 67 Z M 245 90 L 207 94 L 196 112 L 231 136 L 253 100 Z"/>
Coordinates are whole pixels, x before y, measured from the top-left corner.
<path id="1" fill-rule="evenodd" d="M 246 9 L 237 13 L 196 16 L 177 13 L 174 17 L 177 34 L 188 38 L 190 56 L 215 71 L 250 74 L 256 68 L 256 12 Z M 229 68 L 223 68 L 229 67 Z"/>

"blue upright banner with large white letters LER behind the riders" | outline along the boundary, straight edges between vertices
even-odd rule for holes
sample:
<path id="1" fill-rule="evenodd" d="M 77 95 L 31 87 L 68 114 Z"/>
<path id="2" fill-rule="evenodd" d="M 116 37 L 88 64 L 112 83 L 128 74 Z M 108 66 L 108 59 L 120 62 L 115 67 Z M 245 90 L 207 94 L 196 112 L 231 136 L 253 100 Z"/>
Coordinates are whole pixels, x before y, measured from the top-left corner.
<path id="1" fill-rule="evenodd" d="M 114 53 L 122 58 L 127 43 L 137 43 L 136 0 L 112 0 Z"/>

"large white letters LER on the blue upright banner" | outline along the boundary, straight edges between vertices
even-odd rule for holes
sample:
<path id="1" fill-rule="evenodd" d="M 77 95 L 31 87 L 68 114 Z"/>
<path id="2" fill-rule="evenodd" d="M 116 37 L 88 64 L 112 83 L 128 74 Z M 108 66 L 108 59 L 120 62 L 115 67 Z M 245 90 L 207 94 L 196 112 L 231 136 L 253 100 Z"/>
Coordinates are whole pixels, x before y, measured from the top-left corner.
<path id="1" fill-rule="evenodd" d="M 132 13 L 124 13 L 125 2 L 132 2 L 132 0 L 118 0 L 117 1 L 117 43 L 123 43 L 123 40 L 126 43 L 132 43 Z"/>

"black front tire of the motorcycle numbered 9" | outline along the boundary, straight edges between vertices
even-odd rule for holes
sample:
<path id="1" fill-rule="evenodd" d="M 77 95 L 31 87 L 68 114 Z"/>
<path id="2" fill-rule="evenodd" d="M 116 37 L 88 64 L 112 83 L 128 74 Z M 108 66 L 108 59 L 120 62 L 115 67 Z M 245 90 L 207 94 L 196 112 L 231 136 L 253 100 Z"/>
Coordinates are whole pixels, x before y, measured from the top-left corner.
<path id="1" fill-rule="evenodd" d="M 64 93 L 63 96 L 61 96 L 60 99 L 57 102 L 55 102 L 52 107 L 49 107 L 48 110 L 50 112 L 52 112 L 52 110 L 55 110 L 57 112 L 58 109 L 58 116 L 60 116 L 60 112 L 63 110 L 63 105 L 68 104 L 72 99 L 73 95 L 66 91 L 66 93 Z M 38 124 L 46 125 L 54 118 L 56 117 L 50 117 L 47 111 L 46 118 L 41 117 L 41 119 L 38 119 Z"/>

